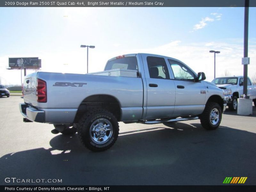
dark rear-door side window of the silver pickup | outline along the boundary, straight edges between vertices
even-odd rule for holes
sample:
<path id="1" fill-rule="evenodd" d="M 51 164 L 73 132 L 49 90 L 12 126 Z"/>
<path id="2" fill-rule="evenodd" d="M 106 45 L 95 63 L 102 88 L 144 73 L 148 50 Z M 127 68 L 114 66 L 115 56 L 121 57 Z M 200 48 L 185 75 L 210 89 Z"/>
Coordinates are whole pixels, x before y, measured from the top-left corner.
<path id="1" fill-rule="evenodd" d="M 162 57 L 147 57 L 150 78 L 170 79 L 167 65 Z"/>

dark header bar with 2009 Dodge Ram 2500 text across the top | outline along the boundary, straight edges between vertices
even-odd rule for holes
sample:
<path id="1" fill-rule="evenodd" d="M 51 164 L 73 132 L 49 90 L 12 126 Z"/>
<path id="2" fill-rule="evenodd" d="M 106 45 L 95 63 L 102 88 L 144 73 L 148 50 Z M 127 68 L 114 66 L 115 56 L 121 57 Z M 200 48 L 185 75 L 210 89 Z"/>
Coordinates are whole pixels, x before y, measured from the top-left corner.
<path id="1" fill-rule="evenodd" d="M 244 7 L 245 0 L 3 0 L 0 7 Z M 251 0 L 250 7 L 256 7 Z"/>

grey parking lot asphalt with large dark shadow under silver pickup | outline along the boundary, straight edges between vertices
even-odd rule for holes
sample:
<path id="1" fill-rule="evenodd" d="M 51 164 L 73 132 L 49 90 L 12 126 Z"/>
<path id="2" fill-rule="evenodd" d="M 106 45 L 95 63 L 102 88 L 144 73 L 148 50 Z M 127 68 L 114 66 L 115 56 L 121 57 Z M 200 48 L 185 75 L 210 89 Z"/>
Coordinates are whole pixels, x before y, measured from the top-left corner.
<path id="1" fill-rule="evenodd" d="M 1 185 L 222 185 L 226 177 L 248 177 L 244 185 L 256 185 L 255 107 L 251 116 L 227 109 L 213 131 L 199 120 L 119 123 L 114 146 L 95 153 L 76 134 L 54 135 L 53 125 L 23 123 L 20 102 L 20 96 L 0 98 Z M 62 182 L 6 183 L 11 177 Z"/>

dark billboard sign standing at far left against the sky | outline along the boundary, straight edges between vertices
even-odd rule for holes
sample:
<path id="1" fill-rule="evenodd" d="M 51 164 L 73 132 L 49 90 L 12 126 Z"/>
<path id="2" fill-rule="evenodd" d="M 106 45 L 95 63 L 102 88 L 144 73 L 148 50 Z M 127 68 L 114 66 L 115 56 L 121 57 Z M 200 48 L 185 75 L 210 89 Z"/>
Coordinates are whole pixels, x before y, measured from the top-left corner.
<path id="1" fill-rule="evenodd" d="M 38 57 L 9 58 L 9 67 L 11 69 L 39 69 L 41 68 L 41 60 Z"/>

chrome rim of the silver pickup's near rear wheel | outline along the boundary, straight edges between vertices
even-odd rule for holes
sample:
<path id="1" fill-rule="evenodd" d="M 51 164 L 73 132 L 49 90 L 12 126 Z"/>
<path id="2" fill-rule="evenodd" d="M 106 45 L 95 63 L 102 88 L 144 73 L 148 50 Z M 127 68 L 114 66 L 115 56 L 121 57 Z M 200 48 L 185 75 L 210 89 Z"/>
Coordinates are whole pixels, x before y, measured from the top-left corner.
<path id="1" fill-rule="evenodd" d="M 113 133 L 113 126 L 108 119 L 97 119 L 90 127 L 91 139 L 97 144 L 108 142 Z"/>

